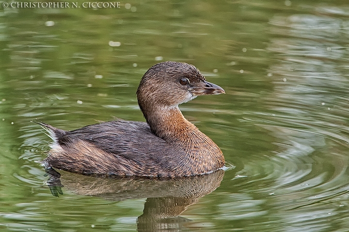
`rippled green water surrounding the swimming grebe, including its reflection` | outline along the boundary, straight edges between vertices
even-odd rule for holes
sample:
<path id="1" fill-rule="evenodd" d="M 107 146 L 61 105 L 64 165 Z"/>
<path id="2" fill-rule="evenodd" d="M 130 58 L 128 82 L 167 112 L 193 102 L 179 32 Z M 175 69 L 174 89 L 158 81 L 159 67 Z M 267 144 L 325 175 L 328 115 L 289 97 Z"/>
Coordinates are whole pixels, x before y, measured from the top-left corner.
<path id="1" fill-rule="evenodd" d="M 1 231 L 348 231 L 347 0 L 4 2 Z M 45 176 L 36 161 L 50 140 L 31 120 L 64 130 L 114 116 L 143 121 L 139 80 L 165 60 L 191 63 L 225 89 L 180 106 L 221 147 L 225 173 Z"/>

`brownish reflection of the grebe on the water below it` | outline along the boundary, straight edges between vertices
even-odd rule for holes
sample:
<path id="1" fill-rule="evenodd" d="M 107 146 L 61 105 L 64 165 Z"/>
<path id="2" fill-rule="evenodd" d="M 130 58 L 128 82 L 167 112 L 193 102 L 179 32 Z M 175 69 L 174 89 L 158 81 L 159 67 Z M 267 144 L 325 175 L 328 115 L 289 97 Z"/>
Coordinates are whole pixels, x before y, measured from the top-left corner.
<path id="1" fill-rule="evenodd" d="M 111 201 L 147 198 L 137 219 L 139 232 L 180 231 L 189 221 L 179 215 L 221 184 L 224 171 L 185 178 L 159 179 L 120 176 L 86 176 L 48 169 L 48 187 L 54 196 L 66 188 L 79 195 Z"/>

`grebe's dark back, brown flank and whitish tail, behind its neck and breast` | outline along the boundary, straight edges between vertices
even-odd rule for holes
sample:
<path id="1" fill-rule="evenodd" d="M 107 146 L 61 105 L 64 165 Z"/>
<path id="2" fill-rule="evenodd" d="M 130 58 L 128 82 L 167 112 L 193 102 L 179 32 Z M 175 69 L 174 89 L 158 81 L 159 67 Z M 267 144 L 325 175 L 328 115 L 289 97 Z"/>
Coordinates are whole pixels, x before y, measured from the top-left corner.
<path id="1" fill-rule="evenodd" d="M 145 122 L 110 121 L 74 131 L 41 125 L 54 140 L 45 166 L 81 174 L 173 175 L 169 158 L 178 151 Z"/>

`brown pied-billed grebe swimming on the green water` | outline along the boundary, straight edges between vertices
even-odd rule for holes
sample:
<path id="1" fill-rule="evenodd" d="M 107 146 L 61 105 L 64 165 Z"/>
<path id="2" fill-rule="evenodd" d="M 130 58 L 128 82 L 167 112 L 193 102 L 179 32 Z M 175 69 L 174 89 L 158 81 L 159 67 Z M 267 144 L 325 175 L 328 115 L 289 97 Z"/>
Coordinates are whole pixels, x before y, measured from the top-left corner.
<path id="1" fill-rule="evenodd" d="M 137 90 L 146 123 L 116 120 L 63 131 L 39 122 L 54 141 L 43 164 L 80 174 L 153 177 L 216 171 L 224 165 L 221 149 L 184 118 L 178 105 L 221 93 L 190 64 L 158 63 Z"/>

